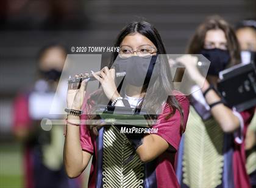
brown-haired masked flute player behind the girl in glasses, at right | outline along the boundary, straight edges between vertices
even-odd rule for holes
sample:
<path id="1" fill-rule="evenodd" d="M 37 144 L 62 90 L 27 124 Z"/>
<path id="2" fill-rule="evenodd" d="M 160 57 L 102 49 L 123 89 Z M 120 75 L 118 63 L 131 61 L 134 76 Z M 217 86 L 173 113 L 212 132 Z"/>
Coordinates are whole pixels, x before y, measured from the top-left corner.
<path id="1" fill-rule="evenodd" d="M 185 55 L 176 59 L 185 65 L 195 83 L 177 163 L 181 187 L 250 187 L 244 137 L 254 109 L 230 109 L 216 89 L 219 72 L 240 63 L 235 31 L 221 17 L 212 16 L 197 28 L 188 53 L 202 54 L 211 63 L 205 80 L 196 67 L 196 57 Z M 202 88 L 200 83 L 204 83 Z"/>

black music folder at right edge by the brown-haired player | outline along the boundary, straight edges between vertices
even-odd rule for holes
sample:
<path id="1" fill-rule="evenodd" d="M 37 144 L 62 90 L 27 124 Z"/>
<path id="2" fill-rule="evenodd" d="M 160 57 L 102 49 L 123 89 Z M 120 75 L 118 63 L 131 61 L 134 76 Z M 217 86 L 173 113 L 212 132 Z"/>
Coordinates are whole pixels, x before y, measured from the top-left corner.
<path id="1" fill-rule="evenodd" d="M 241 112 L 256 106 L 254 64 L 239 64 L 219 73 L 218 91 L 229 107 Z"/>

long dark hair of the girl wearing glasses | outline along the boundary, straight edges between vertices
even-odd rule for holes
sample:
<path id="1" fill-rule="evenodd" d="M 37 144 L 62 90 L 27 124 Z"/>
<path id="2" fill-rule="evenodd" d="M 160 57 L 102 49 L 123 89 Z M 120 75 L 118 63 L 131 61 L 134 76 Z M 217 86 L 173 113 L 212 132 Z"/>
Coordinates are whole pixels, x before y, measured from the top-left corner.
<path id="1" fill-rule="evenodd" d="M 131 22 L 126 27 L 124 27 L 124 29 L 121 30 L 116 39 L 115 47 L 119 47 L 121 42 L 127 35 L 132 35 L 134 33 L 140 33 L 141 35 L 146 36 L 146 38 L 148 38 L 157 48 L 158 55 L 166 55 L 165 47 L 157 29 L 155 29 L 152 24 L 145 21 Z M 113 66 L 113 63 L 117 56 L 118 52 L 112 53 L 110 64 L 108 64 L 109 69 Z M 154 109 L 155 112 L 157 112 L 157 104 L 162 104 L 162 102 L 166 102 L 166 104 L 171 108 L 171 113 L 166 115 L 166 119 L 170 118 L 172 115 L 174 115 L 176 110 L 178 110 L 181 116 L 180 133 L 183 133 L 185 131 L 185 126 L 183 125 L 183 109 L 177 101 L 176 97 L 172 94 L 174 88 L 172 85 L 173 84 L 171 78 L 171 71 L 169 69 L 168 59 L 166 58 L 160 62 L 160 73 L 157 80 L 154 82 L 152 87 L 147 89 L 147 95 L 148 93 L 150 93 L 151 100 L 141 103 L 146 103 L 148 107 L 151 107 L 152 109 Z M 168 96 L 167 101 L 160 101 L 160 95 L 162 95 L 163 98 L 165 98 L 164 96 Z"/>

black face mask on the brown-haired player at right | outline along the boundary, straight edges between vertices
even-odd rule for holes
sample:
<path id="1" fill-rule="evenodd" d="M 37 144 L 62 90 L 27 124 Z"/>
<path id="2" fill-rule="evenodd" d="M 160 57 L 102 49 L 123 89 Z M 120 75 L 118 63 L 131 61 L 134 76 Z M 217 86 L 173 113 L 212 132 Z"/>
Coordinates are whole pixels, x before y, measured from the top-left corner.
<path id="1" fill-rule="evenodd" d="M 200 53 L 211 62 L 208 75 L 219 76 L 219 72 L 226 69 L 230 61 L 228 50 L 204 49 Z"/>

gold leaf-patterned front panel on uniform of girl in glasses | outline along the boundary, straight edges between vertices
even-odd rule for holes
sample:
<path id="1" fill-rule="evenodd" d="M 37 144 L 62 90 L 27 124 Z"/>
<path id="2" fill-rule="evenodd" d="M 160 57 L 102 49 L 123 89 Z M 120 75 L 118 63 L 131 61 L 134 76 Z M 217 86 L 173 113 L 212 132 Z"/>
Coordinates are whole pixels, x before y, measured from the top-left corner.
<path id="1" fill-rule="evenodd" d="M 143 187 L 144 167 L 126 135 L 112 125 L 105 129 L 103 140 L 103 187 Z M 133 158 L 125 163 L 130 155 Z"/>

